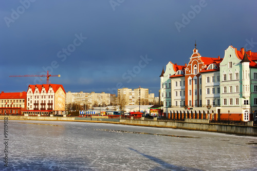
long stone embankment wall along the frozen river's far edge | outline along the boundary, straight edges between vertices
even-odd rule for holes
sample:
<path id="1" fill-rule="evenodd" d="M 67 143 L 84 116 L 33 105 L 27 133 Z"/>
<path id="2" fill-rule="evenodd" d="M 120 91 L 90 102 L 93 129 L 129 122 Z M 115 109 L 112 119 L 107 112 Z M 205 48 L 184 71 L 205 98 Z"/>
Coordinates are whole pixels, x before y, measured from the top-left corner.
<path id="1" fill-rule="evenodd" d="M 185 119 L 185 121 L 157 121 L 157 120 L 133 120 L 133 119 L 108 119 L 102 117 L 36 117 L 36 116 L 0 116 L 0 119 L 8 117 L 8 120 L 40 120 L 40 121 L 73 121 L 124 124 L 135 126 L 150 126 L 162 128 L 176 128 L 200 131 L 222 132 L 226 134 L 257 136 L 257 127 L 249 125 L 212 124 L 208 120 Z"/>

